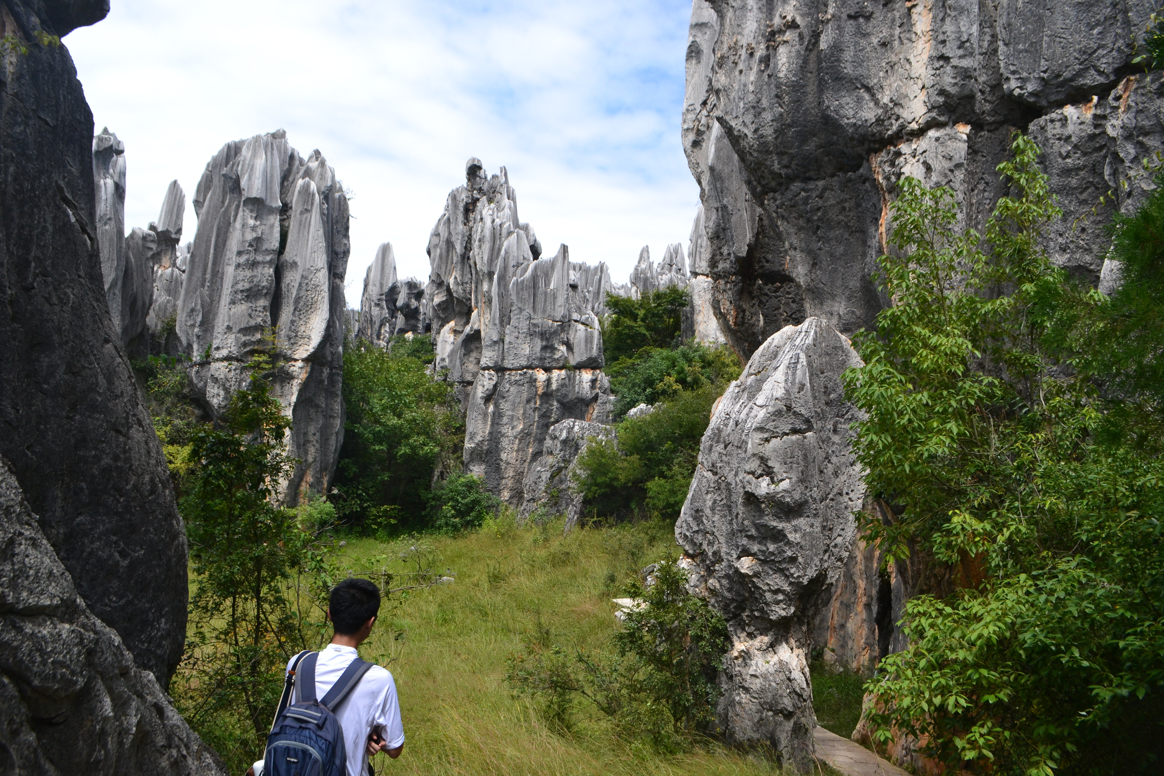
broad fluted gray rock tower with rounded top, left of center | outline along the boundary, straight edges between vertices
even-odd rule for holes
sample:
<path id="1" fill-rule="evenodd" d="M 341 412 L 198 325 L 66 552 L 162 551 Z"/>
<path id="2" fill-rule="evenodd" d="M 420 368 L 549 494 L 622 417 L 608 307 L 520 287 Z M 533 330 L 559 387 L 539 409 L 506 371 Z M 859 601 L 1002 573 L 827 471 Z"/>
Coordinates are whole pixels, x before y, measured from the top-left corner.
<path id="1" fill-rule="evenodd" d="M 198 232 L 178 302 L 191 379 L 212 414 L 247 384 L 270 347 L 272 393 L 292 419 L 288 503 L 326 492 L 343 435 L 343 276 L 348 201 L 319 151 L 301 158 L 281 129 L 232 141 L 194 192 Z"/>

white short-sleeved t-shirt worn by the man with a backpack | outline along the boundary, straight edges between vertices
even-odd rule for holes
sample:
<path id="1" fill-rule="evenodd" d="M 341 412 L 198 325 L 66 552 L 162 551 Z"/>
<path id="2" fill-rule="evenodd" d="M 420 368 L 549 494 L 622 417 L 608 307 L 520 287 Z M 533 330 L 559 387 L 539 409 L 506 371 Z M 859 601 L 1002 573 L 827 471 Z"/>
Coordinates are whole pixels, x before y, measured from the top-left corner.
<path id="1" fill-rule="evenodd" d="M 343 669 L 356 658 L 352 647 L 327 645 L 315 662 L 315 698 L 322 699 Z M 292 657 L 291 661 L 294 661 Z M 291 662 L 288 662 L 291 670 Z M 299 693 L 292 703 L 299 700 Z M 348 697 L 340 704 L 335 718 L 343 727 L 343 746 L 348 750 L 348 776 L 368 775 L 368 735 L 378 728 L 379 736 L 389 749 L 404 743 L 404 725 L 400 722 L 400 704 L 396 699 L 396 682 L 392 675 L 379 665 L 372 665 L 363 675 Z"/>

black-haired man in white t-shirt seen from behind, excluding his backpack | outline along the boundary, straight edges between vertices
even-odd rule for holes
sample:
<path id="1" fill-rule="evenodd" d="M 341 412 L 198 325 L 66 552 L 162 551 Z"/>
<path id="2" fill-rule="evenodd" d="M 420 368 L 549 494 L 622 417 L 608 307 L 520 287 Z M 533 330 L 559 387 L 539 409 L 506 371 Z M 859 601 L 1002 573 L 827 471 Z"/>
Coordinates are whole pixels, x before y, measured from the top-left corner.
<path id="1" fill-rule="evenodd" d="M 332 689 L 348 664 L 356 658 L 356 647 L 368 640 L 379 612 L 379 588 L 367 579 L 350 577 L 332 589 L 327 619 L 335 629 L 315 663 L 315 697 Z M 292 662 L 294 658 L 291 658 Z M 291 662 L 288 663 L 291 670 Z M 372 665 L 332 712 L 343 728 L 348 752 L 348 776 L 367 776 L 368 759 L 378 752 L 393 760 L 404 749 L 404 726 L 392 675 Z M 262 773 L 262 761 L 253 771 Z"/>

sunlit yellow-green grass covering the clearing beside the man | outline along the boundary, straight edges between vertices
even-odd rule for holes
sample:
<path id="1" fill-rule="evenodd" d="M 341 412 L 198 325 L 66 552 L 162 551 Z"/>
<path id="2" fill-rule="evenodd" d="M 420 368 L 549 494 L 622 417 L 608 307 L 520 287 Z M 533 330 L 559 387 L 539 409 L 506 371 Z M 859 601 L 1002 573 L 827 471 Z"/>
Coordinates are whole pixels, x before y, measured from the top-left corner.
<path id="1" fill-rule="evenodd" d="M 577 529 L 561 522 L 518 528 L 490 525 L 457 537 L 426 536 L 452 584 L 416 591 L 384 612 L 361 649 L 393 654 L 406 743 L 399 760 L 375 761 L 379 774 L 779 774 L 769 762 L 707 742 L 681 755 L 660 755 L 615 736 L 592 709 L 576 707 L 573 732 L 555 732 L 534 703 L 514 698 L 505 658 L 523 634 L 548 629 L 567 649 L 610 649 L 617 621 L 612 597 L 638 569 L 675 554 L 669 524 Z M 400 546 L 398 546 L 400 547 Z M 392 549 L 354 540 L 355 560 Z"/>

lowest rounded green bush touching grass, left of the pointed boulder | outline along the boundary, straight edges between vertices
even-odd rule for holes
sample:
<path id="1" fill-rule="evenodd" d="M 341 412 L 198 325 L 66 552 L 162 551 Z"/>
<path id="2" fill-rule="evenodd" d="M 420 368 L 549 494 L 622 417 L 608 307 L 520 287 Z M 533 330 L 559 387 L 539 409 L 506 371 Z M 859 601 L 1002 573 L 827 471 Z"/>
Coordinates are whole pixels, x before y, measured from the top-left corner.
<path id="1" fill-rule="evenodd" d="M 682 391 L 652 413 L 619 422 L 617 442 L 596 439 L 587 444 L 574 476 L 589 510 L 602 517 L 675 520 L 691 485 L 711 406 L 723 391 L 722 384 Z"/>

